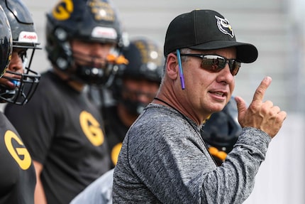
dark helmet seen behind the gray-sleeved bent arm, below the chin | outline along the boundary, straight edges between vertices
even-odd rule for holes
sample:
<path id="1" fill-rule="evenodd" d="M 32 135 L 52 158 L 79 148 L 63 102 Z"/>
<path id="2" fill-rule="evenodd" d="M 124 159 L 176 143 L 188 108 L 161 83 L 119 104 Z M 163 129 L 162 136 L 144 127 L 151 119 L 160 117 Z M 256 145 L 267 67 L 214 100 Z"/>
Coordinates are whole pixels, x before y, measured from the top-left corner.
<path id="1" fill-rule="evenodd" d="M 241 127 L 238 123 L 238 109 L 233 97 L 221 112 L 211 114 L 201 128 L 201 136 L 206 142 L 216 163 L 221 163 L 236 143 Z"/>

